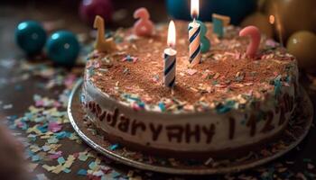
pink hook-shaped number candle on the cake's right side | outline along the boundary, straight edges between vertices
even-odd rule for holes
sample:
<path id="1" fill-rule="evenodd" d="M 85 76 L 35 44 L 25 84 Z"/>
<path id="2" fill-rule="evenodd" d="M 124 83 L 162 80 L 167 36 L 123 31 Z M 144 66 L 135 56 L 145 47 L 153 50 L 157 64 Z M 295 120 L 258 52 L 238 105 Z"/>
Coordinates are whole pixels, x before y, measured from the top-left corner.
<path id="1" fill-rule="evenodd" d="M 250 58 L 255 58 L 261 40 L 261 34 L 258 28 L 255 26 L 247 26 L 239 32 L 239 36 L 250 36 L 251 41 L 246 49 L 246 55 Z"/>

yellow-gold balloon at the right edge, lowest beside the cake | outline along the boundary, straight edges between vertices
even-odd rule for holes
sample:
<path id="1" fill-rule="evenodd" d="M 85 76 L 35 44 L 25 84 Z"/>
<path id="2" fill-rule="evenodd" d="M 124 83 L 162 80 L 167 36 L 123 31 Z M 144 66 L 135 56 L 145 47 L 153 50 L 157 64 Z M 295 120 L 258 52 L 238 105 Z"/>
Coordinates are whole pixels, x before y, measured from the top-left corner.
<path id="1" fill-rule="evenodd" d="M 287 40 L 286 48 L 293 54 L 299 67 L 316 68 L 316 34 L 311 31 L 297 31 Z"/>

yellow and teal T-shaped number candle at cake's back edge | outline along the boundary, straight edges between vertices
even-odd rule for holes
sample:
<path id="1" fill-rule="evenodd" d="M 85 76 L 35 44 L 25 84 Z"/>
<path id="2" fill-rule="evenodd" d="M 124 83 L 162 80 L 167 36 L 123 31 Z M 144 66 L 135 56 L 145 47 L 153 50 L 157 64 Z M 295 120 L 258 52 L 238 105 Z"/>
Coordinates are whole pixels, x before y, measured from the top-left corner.
<path id="1" fill-rule="evenodd" d="M 230 23 L 230 17 L 226 15 L 213 14 L 213 32 L 218 35 L 218 38 L 224 37 L 224 27 Z"/>

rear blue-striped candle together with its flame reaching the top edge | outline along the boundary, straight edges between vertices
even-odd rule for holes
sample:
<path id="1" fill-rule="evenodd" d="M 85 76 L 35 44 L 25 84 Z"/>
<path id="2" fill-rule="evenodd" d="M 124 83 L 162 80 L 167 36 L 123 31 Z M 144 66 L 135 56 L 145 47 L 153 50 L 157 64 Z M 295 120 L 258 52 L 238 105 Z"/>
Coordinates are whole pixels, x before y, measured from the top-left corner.
<path id="1" fill-rule="evenodd" d="M 199 16 L 199 0 L 191 0 L 191 16 L 193 22 L 189 24 L 189 54 L 191 66 L 200 63 L 200 23 L 197 23 L 196 19 Z"/>

